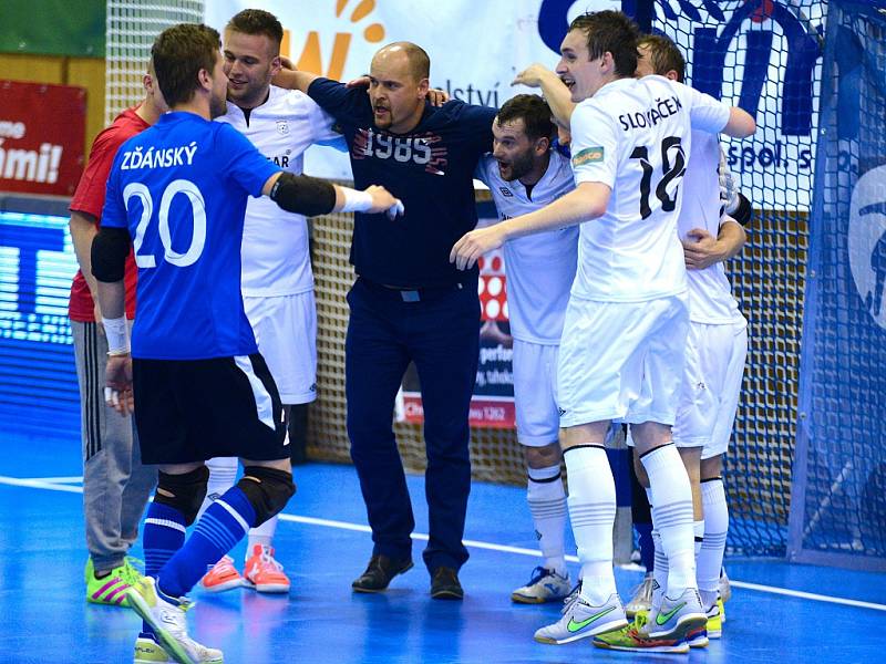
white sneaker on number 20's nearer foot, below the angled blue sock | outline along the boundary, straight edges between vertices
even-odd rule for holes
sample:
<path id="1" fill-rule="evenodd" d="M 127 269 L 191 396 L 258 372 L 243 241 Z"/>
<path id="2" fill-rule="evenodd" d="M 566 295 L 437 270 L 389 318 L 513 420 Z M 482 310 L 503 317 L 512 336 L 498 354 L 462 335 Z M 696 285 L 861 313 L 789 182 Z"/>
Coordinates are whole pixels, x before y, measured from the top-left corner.
<path id="1" fill-rule="evenodd" d="M 126 589 L 130 606 L 154 630 L 159 644 L 179 664 L 219 664 L 222 651 L 206 647 L 187 635 L 184 604 L 167 598 L 156 588 L 153 577 L 143 577 Z"/>

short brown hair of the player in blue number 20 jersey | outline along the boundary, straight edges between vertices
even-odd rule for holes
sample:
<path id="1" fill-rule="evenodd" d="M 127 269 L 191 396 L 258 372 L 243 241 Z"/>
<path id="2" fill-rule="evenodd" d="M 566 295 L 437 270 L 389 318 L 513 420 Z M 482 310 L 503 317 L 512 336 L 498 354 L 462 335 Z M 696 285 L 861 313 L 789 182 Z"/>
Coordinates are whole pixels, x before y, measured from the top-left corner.
<path id="1" fill-rule="evenodd" d="M 151 46 L 151 59 L 169 107 L 192 100 L 200 70 L 215 70 L 220 46 L 218 31 L 202 23 L 179 23 L 159 33 Z"/>

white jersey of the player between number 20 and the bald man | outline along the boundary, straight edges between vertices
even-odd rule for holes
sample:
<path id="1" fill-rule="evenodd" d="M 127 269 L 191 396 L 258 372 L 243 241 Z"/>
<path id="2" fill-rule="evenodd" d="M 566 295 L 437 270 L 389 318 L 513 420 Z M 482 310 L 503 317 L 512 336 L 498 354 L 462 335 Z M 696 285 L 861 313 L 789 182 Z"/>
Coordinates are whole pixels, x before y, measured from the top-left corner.
<path id="1" fill-rule="evenodd" d="M 300 174 L 303 153 L 318 142 L 341 138 L 332 117 L 308 95 L 271 85 L 268 100 L 244 112 L 228 103 L 216 118 L 233 125 L 268 159 Z M 302 215 L 281 210 L 270 198 L 249 198 L 243 234 L 243 294 L 270 298 L 313 290 L 308 225 Z"/>

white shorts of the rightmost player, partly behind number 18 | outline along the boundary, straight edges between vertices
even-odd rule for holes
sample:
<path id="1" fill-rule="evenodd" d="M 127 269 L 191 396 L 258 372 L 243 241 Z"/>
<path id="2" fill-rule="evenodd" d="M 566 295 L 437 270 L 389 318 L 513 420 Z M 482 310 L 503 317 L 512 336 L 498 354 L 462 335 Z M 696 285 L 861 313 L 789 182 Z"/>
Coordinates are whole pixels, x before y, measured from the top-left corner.
<path id="1" fill-rule="evenodd" d="M 710 447 L 719 426 L 725 452 L 739 404 L 748 332 L 744 324 L 690 323 L 680 405 L 673 425 L 677 447 Z M 713 453 L 710 456 L 722 454 Z"/>

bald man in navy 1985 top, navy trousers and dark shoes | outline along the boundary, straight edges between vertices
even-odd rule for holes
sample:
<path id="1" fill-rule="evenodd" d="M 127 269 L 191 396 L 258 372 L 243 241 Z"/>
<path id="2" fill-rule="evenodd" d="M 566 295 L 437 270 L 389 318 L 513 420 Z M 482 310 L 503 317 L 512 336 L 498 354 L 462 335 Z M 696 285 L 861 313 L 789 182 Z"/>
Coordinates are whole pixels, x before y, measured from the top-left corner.
<path id="1" fill-rule="evenodd" d="M 453 243 L 476 225 L 473 173 L 492 145 L 495 110 L 425 102 L 430 61 L 408 42 L 372 59 L 369 93 L 289 72 L 337 121 L 350 148 L 356 186 L 384 185 L 405 215 L 357 214 L 346 345 L 351 458 L 374 548 L 359 592 L 384 590 L 412 567 L 414 528 L 403 464 L 392 429 L 394 398 L 410 361 L 424 405 L 425 491 L 431 539 L 424 562 L 431 595 L 462 599 L 457 570 L 471 490 L 468 405 L 477 370 L 477 271 L 449 262 Z"/>

